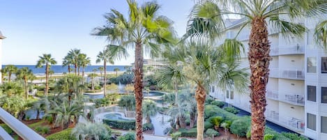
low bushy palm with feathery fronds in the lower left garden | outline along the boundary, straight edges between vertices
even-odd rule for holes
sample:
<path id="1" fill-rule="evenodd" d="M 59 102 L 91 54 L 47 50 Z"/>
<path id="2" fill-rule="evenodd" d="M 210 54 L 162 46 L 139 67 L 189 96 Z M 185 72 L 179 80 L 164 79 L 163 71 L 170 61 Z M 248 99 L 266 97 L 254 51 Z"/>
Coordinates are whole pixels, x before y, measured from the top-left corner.
<path id="1" fill-rule="evenodd" d="M 73 120 L 73 123 L 77 123 L 77 118 L 83 114 L 83 107 L 77 104 L 77 102 L 70 103 L 68 100 L 63 100 L 61 104 L 53 101 L 52 104 L 54 109 L 50 110 L 49 114 L 56 115 L 54 122 L 56 125 L 61 125 L 63 130 L 68 128 L 71 120 Z"/>

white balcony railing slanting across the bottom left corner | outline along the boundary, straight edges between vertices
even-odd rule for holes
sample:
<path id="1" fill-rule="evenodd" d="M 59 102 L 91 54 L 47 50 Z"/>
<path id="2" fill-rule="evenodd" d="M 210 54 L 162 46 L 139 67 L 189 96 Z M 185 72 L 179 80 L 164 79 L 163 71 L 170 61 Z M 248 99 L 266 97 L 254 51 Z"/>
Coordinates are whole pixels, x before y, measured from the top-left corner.
<path id="1" fill-rule="evenodd" d="M 17 120 L 17 118 L 15 118 L 14 116 L 11 116 L 7 111 L 3 110 L 1 107 L 0 107 L 0 119 L 3 121 L 3 123 L 6 123 L 6 125 L 8 125 L 22 139 L 45 140 L 45 138 L 40 136 L 40 134 L 31 130 L 31 128 L 27 127 L 20 120 Z M 5 133 L 3 133 L 3 131 L 0 130 L 0 139 L 10 140 L 10 138 L 8 138 L 8 134 L 7 133 L 5 134 Z"/>

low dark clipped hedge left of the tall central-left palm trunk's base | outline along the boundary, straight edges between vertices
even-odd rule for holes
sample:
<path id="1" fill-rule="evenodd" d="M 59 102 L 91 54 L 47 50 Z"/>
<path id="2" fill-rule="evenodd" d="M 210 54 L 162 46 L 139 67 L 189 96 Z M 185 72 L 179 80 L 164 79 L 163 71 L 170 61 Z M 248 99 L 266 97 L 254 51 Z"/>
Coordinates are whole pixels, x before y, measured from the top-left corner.
<path id="1" fill-rule="evenodd" d="M 118 128 L 123 130 L 135 130 L 135 120 L 103 119 L 103 123 L 109 125 L 112 128 Z"/>

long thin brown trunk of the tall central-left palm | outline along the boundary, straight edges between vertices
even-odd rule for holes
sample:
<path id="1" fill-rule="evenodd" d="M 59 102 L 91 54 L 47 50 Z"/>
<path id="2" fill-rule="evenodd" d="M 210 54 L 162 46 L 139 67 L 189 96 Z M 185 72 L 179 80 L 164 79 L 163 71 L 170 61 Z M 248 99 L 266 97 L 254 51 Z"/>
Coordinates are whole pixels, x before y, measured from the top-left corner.
<path id="1" fill-rule="evenodd" d="M 134 69 L 134 88 L 135 88 L 135 130 L 136 140 L 143 139 L 142 132 L 142 100 L 143 100 L 143 52 L 141 42 L 137 42 L 135 45 L 135 69 Z"/>

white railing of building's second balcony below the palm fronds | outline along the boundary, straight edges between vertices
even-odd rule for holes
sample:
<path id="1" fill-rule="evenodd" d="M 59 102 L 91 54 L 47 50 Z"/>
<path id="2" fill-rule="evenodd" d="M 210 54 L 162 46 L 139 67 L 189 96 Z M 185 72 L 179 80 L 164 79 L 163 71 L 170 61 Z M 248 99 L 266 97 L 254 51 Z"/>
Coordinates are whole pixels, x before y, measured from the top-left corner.
<path id="1" fill-rule="evenodd" d="M 280 70 L 280 77 L 287 79 L 304 79 L 305 72 L 303 69 L 285 69 Z"/>

